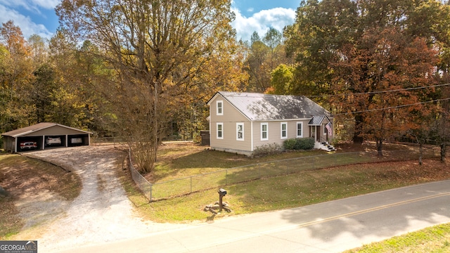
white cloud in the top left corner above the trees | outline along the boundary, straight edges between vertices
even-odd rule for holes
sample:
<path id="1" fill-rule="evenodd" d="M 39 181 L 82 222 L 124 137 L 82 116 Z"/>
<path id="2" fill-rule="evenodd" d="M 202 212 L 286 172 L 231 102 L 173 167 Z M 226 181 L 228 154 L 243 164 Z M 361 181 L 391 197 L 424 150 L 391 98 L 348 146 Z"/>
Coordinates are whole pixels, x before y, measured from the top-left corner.
<path id="1" fill-rule="evenodd" d="M 25 39 L 28 39 L 32 34 L 38 34 L 40 37 L 47 39 L 53 35 L 44 25 L 36 24 L 32 22 L 30 17 L 0 4 L 0 23 L 6 23 L 8 20 L 13 20 L 14 25 L 20 27 Z"/>

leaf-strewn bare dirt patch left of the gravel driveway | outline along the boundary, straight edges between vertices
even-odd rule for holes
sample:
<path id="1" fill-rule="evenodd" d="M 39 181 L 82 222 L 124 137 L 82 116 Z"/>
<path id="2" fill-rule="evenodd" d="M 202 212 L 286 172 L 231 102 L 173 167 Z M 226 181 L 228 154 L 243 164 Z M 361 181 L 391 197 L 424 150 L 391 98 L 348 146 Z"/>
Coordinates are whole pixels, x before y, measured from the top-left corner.
<path id="1" fill-rule="evenodd" d="M 76 174 L 46 162 L 4 154 L 0 164 L 0 185 L 7 193 L 0 197 L 5 217 L 0 238 L 58 216 L 81 189 Z"/>

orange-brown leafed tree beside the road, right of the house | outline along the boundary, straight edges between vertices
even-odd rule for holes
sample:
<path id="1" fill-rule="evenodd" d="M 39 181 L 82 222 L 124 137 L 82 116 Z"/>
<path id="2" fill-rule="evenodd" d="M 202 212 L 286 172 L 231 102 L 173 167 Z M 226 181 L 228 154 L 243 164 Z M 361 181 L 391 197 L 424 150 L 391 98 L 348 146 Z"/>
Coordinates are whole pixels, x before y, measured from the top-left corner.
<path id="1" fill-rule="evenodd" d="M 383 141 L 423 129 L 432 112 L 437 52 L 424 39 L 410 38 L 394 28 L 370 30 L 359 46 L 348 45 L 335 69 L 333 103 L 355 115 L 359 136 L 374 140 L 382 154 Z M 423 89 L 420 89 L 423 87 Z"/>

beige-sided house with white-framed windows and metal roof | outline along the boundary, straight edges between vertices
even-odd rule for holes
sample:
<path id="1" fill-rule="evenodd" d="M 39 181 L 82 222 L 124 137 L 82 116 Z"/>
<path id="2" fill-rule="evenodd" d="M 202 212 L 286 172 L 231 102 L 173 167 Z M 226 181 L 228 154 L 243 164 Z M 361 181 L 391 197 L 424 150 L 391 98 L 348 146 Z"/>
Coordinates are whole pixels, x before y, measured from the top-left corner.
<path id="1" fill-rule="evenodd" d="M 289 138 L 314 138 L 314 148 L 328 150 L 333 116 L 305 96 L 217 92 L 210 106 L 210 146 L 243 155 Z"/>

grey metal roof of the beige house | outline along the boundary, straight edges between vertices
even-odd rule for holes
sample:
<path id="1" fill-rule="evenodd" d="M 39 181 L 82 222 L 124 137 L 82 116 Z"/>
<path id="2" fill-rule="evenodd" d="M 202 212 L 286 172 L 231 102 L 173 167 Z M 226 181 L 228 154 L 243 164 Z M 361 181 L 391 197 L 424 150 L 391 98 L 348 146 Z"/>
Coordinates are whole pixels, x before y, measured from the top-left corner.
<path id="1" fill-rule="evenodd" d="M 236 109 L 252 121 L 309 119 L 314 116 L 331 117 L 313 100 L 305 96 L 269 95 L 262 93 L 238 93 L 219 91 Z"/>

